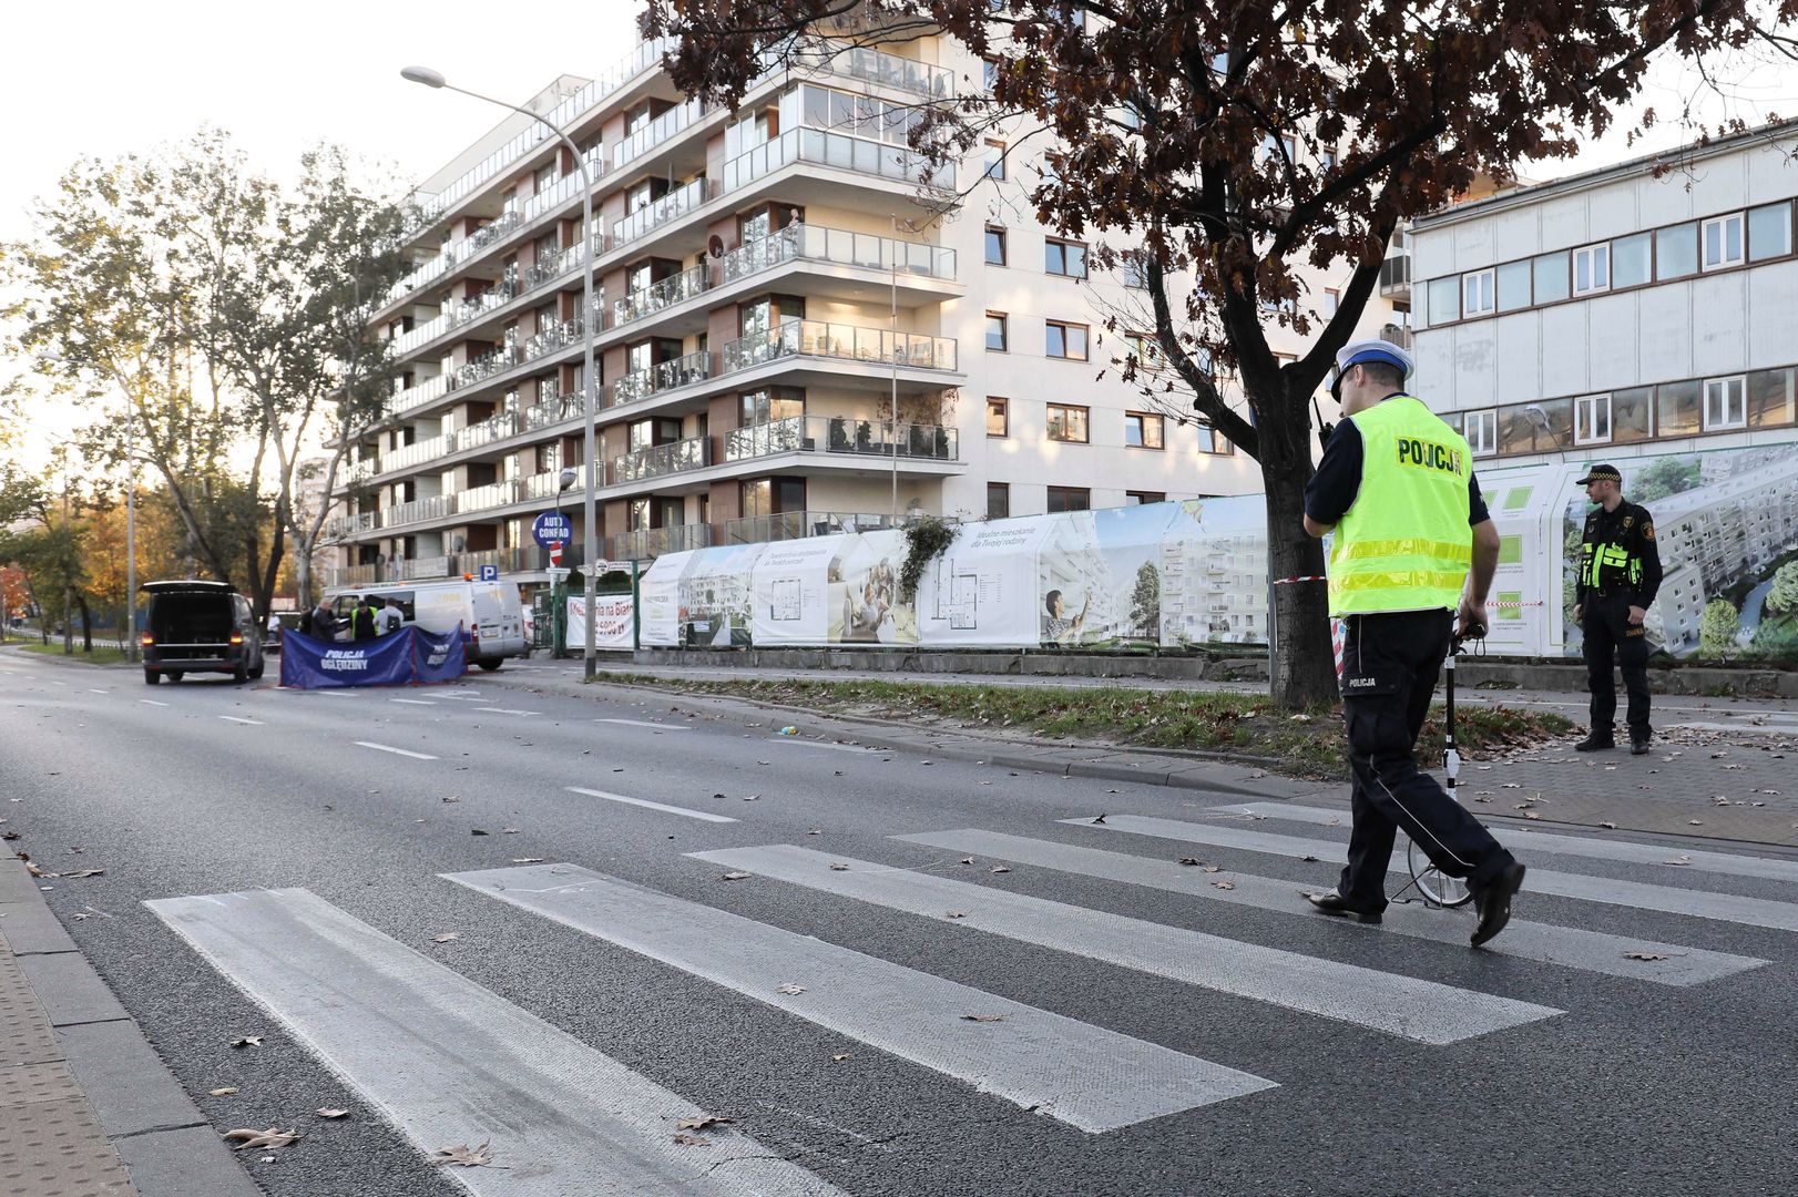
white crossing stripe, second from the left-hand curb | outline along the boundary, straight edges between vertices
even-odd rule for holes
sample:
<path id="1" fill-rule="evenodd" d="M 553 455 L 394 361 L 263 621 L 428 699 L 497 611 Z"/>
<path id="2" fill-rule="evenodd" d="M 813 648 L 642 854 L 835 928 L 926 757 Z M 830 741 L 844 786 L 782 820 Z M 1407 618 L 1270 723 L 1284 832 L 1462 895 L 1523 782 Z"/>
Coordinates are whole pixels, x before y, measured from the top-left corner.
<path id="1" fill-rule="evenodd" d="M 572 864 L 444 877 L 1081 1130 L 1115 1130 L 1275 1087 L 1223 1064 Z M 804 992 L 782 994 L 788 983 Z M 975 1023 L 966 1014 L 1003 1021 Z"/>

